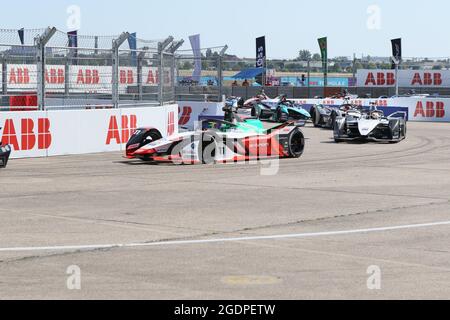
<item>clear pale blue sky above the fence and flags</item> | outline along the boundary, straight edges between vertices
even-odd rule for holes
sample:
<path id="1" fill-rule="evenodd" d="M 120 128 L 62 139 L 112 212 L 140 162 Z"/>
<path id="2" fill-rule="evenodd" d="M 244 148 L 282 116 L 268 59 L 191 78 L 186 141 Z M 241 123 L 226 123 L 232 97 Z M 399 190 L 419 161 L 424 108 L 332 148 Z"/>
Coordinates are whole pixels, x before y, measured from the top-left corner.
<path id="1" fill-rule="evenodd" d="M 403 38 L 405 57 L 450 56 L 450 3 L 444 0 L 3 1 L 0 28 L 67 31 L 70 5 L 81 9 L 81 34 L 136 31 L 139 38 L 187 40 L 200 33 L 202 47 L 228 44 L 229 53 L 246 57 L 254 56 L 261 35 L 272 58 L 318 52 L 321 36 L 329 37 L 330 56 L 387 56 L 396 37 Z"/>

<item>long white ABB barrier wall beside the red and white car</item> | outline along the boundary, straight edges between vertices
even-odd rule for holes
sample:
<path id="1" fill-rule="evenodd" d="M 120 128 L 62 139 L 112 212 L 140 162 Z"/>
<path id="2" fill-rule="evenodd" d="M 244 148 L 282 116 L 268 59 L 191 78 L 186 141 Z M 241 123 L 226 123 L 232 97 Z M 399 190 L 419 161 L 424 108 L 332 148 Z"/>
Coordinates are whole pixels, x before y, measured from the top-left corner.
<path id="1" fill-rule="evenodd" d="M 0 112 L 12 158 L 123 151 L 137 127 L 178 132 L 177 105 L 109 110 Z"/>

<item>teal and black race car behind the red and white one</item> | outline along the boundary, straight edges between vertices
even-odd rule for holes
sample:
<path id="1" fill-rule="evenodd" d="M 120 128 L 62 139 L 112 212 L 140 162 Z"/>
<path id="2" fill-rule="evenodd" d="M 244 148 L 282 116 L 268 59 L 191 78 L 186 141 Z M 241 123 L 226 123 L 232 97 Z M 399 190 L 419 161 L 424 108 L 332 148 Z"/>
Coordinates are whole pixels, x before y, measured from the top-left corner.
<path id="1" fill-rule="evenodd" d="M 289 120 L 307 121 L 311 119 L 311 115 L 302 105 L 287 100 L 285 96 L 280 96 L 275 99 L 247 101 L 246 106 L 251 107 L 252 117 L 261 120 L 286 122 Z"/>

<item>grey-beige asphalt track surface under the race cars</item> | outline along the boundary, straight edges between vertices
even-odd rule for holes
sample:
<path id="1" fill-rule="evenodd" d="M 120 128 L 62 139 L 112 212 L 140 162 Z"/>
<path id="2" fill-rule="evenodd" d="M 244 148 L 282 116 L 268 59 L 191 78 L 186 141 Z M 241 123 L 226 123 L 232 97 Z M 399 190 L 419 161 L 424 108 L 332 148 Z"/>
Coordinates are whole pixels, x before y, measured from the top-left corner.
<path id="1" fill-rule="evenodd" d="M 12 160 L 0 299 L 449 299 L 450 124 L 409 123 L 399 144 L 304 133 L 304 156 L 275 175 L 118 153 Z"/>

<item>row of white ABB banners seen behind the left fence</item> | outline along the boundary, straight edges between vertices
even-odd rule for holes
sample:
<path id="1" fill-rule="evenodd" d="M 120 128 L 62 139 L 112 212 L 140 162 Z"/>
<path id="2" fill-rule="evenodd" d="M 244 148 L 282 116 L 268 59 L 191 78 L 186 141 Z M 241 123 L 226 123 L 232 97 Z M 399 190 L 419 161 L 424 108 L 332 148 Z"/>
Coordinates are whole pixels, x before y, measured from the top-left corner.
<path id="1" fill-rule="evenodd" d="M 46 88 L 48 91 L 64 92 L 66 71 L 64 65 L 47 65 L 45 73 Z M 127 93 L 129 87 L 137 83 L 136 67 L 119 68 L 119 92 Z M 143 67 L 142 79 L 144 86 L 157 86 L 159 83 L 158 68 Z M 164 69 L 164 81 L 171 83 L 170 68 Z M 33 64 L 8 64 L 7 67 L 8 90 L 36 91 L 37 67 Z M 111 93 L 112 67 L 109 66 L 70 66 L 69 90 L 79 93 Z"/>

